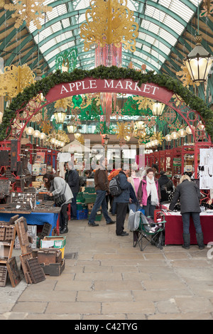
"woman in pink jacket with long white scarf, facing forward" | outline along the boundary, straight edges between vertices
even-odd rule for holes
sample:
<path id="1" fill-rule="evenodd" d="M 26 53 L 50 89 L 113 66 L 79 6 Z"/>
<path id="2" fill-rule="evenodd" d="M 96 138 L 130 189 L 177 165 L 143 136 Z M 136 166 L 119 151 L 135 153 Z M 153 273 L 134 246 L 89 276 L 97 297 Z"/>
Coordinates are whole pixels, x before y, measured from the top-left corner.
<path id="1" fill-rule="evenodd" d="M 143 206 L 146 217 L 154 217 L 154 210 L 160 203 L 160 187 L 152 168 L 148 168 L 138 188 L 138 203 Z"/>

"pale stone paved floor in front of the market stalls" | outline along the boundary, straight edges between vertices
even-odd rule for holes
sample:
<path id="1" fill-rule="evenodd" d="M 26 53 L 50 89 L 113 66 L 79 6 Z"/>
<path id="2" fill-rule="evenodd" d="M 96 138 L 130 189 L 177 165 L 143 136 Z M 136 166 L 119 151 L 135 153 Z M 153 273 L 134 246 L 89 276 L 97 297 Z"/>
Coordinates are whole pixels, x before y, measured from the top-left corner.
<path id="1" fill-rule="evenodd" d="M 127 220 L 126 220 L 127 226 Z M 213 259 L 206 247 L 189 250 L 151 244 L 141 252 L 133 235 L 117 237 L 115 225 L 69 222 L 60 276 L 0 288 L 0 320 L 212 319 Z M 13 251 L 18 261 L 19 251 Z"/>

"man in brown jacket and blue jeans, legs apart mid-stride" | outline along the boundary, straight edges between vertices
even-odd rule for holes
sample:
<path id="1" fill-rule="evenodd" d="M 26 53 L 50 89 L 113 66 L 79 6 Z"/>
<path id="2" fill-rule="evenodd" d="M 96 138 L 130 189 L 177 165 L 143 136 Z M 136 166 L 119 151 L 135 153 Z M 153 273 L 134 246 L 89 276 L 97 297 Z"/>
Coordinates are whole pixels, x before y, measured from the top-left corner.
<path id="1" fill-rule="evenodd" d="M 115 223 L 115 221 L 111 220 L 111 218 L 108 215 L 108 211 L 107 211 L 106 195 L 107 193 L 109 193 L 109 183 L 108 183 L 105 164 L 107 164 L 105 161 L 105 158 L 104 157 L 100 158 L 99 168 L 94 173 L 94 185 L 95 185 L 95 191 L 97 193 L 97 198 L 94 202 L 94 206 L 89 216 L 89 222 L 88 222 L 89 226 L 99 226 L 99 224 L 96 224 L 94 220 L 95 220 L 97 211 L 99 210 L 101 206 L 102 206 L 102 212 L 103 212 L 105 220 L 107 221 L 107 224 Z"/>

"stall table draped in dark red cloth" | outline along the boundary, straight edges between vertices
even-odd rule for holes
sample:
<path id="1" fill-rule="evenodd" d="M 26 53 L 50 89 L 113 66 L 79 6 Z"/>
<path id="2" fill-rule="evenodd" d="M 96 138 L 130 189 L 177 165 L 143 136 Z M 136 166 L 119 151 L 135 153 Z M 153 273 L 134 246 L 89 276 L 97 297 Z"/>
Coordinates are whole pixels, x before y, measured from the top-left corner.
<path id="1" fill-rule="evenodd" d="M 165 245 L 183 244 L 182 239 L 182 215 L 180 212 L 165 213 Z M 213 215 L 205 212 L 200 213 L 200 222 L 204 235 L 204 244 L 213 242 Z M 195 226 L 190 217 L 190 244 L 197 244 Z"/>

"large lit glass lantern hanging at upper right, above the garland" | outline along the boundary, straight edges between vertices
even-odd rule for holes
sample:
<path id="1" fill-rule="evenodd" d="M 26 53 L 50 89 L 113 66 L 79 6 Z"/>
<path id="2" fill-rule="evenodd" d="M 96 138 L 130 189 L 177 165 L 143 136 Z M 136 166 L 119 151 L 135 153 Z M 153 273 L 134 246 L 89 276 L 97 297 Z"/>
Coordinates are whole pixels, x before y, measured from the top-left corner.
<path id="1" fill-rule="evenodd" d="M 195 48 L 185 58 L 185 64 L 193 82 L 204 82 L 212 66 L 212 55 L 202 47 L 201 35 L 195 37 L 195 42 Z"/>

